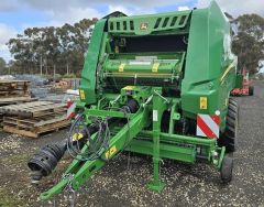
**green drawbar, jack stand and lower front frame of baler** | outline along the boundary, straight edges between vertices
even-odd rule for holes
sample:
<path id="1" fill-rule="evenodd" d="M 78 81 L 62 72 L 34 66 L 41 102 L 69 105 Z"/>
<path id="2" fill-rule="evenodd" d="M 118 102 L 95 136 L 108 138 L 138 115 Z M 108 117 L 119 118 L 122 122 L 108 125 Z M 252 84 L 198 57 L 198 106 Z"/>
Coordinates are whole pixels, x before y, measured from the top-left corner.
<path id="1" fill-rule="evenodd" d="M 145 90 L 150 91 L 147 88 Z M 161 192 L 165 186 L 165 183 L 160 177 L 161 159 L 195 163 L 197 146 L 204 148 L 207 161 L 220 170 L 226 149 L 224 146 L 218 148 L 216 139 L 191 138 L 161 132 L 161 120 L 164 110 L 175 108 L 178 103 L 175 99 L 162 97 L 161 92 L 162 88 L 156 87 L 152 88 L 151 94 L 145 94 L 146 97 L 152 97 L 151 101 L 141 102 L 139 111 L 134 115 L 129 115 L 129 123 L 121 129 L 116 129 L 117 133 L 110 139 L 109 149 L 102 153 L 101 157 L 82 162 L 79 161 L 81 157 L 77 156 L 66 170 L 62 181 L 50 190 L 43 193 L 41 199 L 51 199 L 54 195 L 62 193 L 68 185 L 73 189 L 78 189 L 90 176 L 123 149 L 153 156 L 154 175 L 148 184 L 148 188 L 153 190 Z M 150 124 L 148 117 L 151 112 L 153 113 L 153 130 L 146 131 L 144 129 Z M 86 109 L 85 115 L 87 117 L 125 118 L 120 111 L 101 109 Z M 174 118 L 178 119 L 178 116 Z M 96 135 L 94 135 L 94 139 L 96 139 Z M 188 146 L 184 146 L 183 144 L 187 144 Z M 87 150 L 88 146 L 85 145 L 81 151 L 87 152 Z M 218 152 L 219 156 L 213 157 L 213 152 Z"/>

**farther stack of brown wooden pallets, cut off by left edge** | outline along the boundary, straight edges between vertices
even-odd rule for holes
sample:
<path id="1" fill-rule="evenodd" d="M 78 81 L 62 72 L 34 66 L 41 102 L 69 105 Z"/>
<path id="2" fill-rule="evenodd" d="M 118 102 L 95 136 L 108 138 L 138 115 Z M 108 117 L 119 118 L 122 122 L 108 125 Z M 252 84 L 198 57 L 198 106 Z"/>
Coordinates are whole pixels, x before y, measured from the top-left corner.
<path id="1" fill-rule="evenodd" d="M 28 80 L 0 80 L 0 106 L 31 101 Z"/>

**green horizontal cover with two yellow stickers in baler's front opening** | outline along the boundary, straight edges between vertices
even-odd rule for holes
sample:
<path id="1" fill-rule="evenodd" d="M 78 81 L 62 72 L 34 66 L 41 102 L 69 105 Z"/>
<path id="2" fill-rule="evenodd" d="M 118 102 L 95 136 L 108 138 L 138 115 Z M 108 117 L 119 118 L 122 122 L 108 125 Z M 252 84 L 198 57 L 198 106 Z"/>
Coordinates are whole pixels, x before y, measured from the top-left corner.
<path id="1" fill-rule="evenodd" d="M 183 68 L 185 53 L 160 55 L 121 54 L 106 59 L 103 70 L 106 77 L 132 78 L 167 78 L 172 81 L 178 77 Z"/>

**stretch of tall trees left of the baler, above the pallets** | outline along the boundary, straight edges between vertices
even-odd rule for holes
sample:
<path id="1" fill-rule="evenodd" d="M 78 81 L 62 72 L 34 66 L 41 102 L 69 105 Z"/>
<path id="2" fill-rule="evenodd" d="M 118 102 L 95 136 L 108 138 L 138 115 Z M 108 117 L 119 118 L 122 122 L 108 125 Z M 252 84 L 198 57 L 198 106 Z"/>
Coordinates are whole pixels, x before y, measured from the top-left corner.
<path id="1" fill-rule="evenodd" d="M 74 25 L 28 28 L 10 39 L 8 46 L 16 74 L 80 74 L 84 55 L 97 19 L 84 19 Z"/>

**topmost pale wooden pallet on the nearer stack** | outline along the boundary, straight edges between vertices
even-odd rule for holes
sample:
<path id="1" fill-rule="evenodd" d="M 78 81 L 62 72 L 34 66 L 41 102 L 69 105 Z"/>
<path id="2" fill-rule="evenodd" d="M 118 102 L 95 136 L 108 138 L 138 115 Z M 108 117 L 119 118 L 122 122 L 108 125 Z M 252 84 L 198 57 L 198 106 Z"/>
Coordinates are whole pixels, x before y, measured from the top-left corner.
<path id="1" fill-rule="evenodd" d="M 65 112 L 66 110 L 65 103 L 54 103 L 51 101 L 33 101 L 0 107 L 0 112 L 4 115 L 23 118 L 52 116 L 54 113 Z"/>

